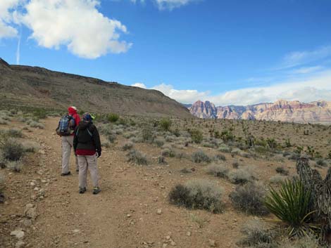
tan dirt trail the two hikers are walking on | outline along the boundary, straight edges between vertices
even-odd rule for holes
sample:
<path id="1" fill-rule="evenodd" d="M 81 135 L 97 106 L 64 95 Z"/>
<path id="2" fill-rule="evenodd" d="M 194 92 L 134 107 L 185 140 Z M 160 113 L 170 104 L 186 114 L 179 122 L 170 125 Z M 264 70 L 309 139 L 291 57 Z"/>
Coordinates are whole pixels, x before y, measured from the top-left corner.
<path id="1" fill-rule="evenodd" d="M 57 122 L 57 118 L 48 118 L 44 120 L 45 129 L 26 133 L 42 145 L 39 156 L 44 172 L 32 177 L 51 178 L 51 183 L 44 187 L 47 197 L 34 202 L 39 216 L 27 233 L 29 247 L 200 248 L 210 247 L 210 240 L 216 240 L 218 247 L 235 247 L 239 226 L 247 220 L 245 215 L 233 211 L 211 214 L 168 204 L 168 192 L 175 183 L 198 175 L 206 177 L 203 171 L 182 175 L 178 173 L 182 165 L 179 159 L 168 167 L 129 164 L 126 152 L 120 150 L 121 139 L 118 145 L 104 148 L 98 160 L 100 194 L 92 195 L 88 181 L 87 192 L 80 195 L 73 156 L 70 161 L 73 175 L 60 176 L 61 139 L 54 134 Z M 146 153 L 151 149 L 144 144 L 139 147 Z M 32 179 L 26 179 L 26 183 Z M 157 213 L 158 209 L 161 214 Z"/>

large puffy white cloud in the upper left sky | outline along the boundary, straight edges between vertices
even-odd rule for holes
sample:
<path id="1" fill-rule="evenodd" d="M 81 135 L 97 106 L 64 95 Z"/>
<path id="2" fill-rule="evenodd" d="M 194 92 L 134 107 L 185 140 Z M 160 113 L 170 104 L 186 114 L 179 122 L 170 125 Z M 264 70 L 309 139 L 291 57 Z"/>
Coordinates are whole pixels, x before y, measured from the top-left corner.
<path id="1" fill-rule="evenodd" d="M 30 39 L 44 48 L 66 46 L 89 59 L 125 53 L 132 44 L 119 39 L 127 27 L 100 13 L 99 5 L 99 0 L 1 0 L 0 38 L 17 37 L 15 25 L 25 25 Z"/>

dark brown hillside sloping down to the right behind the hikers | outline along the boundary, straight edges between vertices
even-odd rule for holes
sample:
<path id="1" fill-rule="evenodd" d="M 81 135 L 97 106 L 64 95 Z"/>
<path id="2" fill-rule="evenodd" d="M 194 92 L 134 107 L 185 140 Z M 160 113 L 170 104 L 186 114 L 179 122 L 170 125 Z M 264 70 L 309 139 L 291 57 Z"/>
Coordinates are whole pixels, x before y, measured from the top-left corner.
<path id="1" fill-rule="evenodd" d="M 41 67 L 8 65 L 0 58 L 0 105 L 92 112 L 192 117 L 186 107 L 155 90 L 125 86 Z"/>

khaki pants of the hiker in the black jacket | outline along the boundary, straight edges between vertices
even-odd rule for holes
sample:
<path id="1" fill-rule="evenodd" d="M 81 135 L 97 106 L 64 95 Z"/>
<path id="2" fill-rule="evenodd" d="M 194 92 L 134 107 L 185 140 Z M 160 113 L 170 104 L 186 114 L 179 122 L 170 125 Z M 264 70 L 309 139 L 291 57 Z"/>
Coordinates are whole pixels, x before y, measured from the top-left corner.
<path id="1" fill-rule="evenodd" d="M 99 172 L 98 166 L 96 164 L 97 157 L 96 155 L 92 156 L 82 156 L 77 155 L 78 164 L 80 166 L 80 188 L 86 188 L 87 186 L 87 169 L 89 169 L 89 174 L 91 175 L 93 187 L 99 187 Z"/>

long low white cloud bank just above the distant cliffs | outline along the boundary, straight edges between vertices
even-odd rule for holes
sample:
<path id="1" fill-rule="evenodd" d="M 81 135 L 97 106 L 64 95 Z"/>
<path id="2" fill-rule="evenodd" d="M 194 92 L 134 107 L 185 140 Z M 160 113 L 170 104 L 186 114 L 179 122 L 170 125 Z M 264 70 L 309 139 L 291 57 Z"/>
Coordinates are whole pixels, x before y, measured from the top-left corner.
<path id="1" fill-rule="evenodd" d="M 302 81 L 285 81 L 271 86 L 238 89 L 216 96 L 211 95 L 208 91 L 177 90 L 167 84 L 160 84 L 151 89 L 161 91 L 180 103 L 210 100 L 218 106 L 270 103 L 280 99 L 302 102 L 331 100 L 331 70 Z"/>

